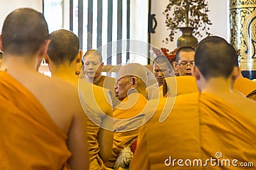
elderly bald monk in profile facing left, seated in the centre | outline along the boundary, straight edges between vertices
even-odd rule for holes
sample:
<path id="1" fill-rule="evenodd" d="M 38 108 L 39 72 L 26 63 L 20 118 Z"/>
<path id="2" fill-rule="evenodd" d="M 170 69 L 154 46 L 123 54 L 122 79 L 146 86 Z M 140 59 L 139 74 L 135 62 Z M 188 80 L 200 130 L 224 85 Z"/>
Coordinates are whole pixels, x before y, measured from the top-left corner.
<path id="1" fill-rule="evenodd" d="M 126 64 L 118 71 L 115 89 L 121 103 L 113 111 L 115 132 L 113 153 L 106 163 L 108 167 L 129 167 L 133 155 L 130 146 L 138 137 L 140 113 L 147 104 L 146 83 L 147 72 L 141 64 Z"/>

